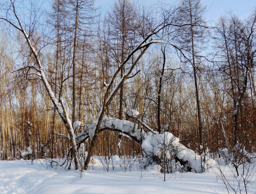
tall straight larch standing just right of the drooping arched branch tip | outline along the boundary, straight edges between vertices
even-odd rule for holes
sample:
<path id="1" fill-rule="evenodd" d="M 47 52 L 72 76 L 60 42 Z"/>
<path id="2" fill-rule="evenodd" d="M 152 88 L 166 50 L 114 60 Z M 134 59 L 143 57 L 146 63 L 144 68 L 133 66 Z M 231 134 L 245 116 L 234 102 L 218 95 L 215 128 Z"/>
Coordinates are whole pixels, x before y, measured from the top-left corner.
<path id="1" fill-rule="evenodd" d="M 200 110 L 200 98 L 198 89 L 198 66 L 200 60 L 197 60 L 198 52 L 202 51 L 207 33 L 206 22 L 204 22 L 204 13 L 206 7 L 201 4 L 201 0 L 182 0 L 180 5 L 180 17 L 183 24 L 189 24 L 180 34 L 180 42 L 189 53 L 189 63 L 193 66 L 193 75 L 195 82 L 195 93 L 197 102 L 198 118 L 198 146 L 203 145 L 203 124 Z M 205 26 L 205 27 L 204 27 Z M 199 61 L 199 62 L 198 62 Z"/>

